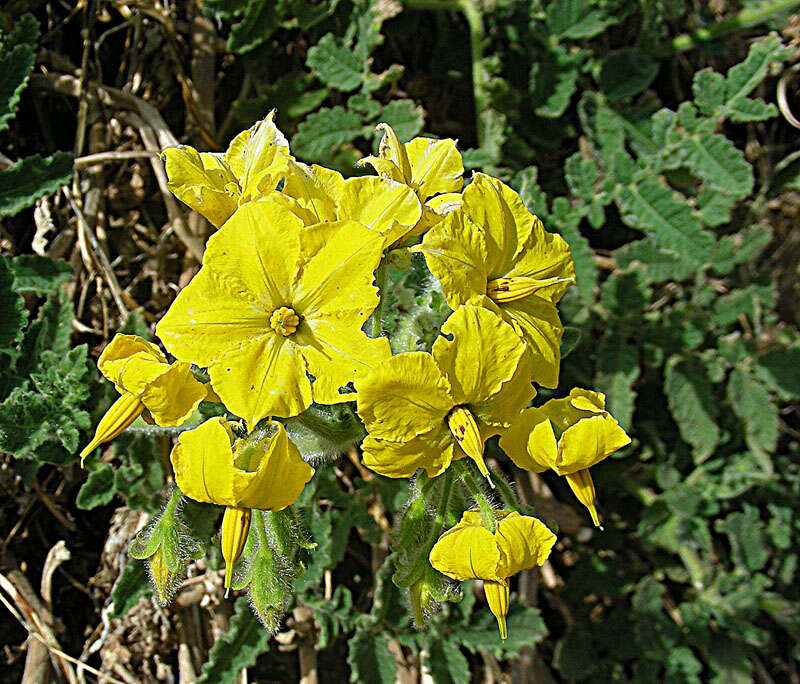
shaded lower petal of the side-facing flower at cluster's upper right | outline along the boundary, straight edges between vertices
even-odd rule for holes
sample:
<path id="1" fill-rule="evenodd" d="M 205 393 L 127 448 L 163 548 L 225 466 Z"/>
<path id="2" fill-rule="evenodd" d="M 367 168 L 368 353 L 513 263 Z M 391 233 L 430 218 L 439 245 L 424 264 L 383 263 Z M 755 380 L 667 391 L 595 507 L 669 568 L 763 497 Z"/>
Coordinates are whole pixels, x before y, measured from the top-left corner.
<path id="1" fill-rule="evenodd" d="M 564 326 L 555 305 L 531 295 L 498 305 L 498 308 L 530 347 L 533 360 L 531 379 L 544 387 L 558 387 Z"/>

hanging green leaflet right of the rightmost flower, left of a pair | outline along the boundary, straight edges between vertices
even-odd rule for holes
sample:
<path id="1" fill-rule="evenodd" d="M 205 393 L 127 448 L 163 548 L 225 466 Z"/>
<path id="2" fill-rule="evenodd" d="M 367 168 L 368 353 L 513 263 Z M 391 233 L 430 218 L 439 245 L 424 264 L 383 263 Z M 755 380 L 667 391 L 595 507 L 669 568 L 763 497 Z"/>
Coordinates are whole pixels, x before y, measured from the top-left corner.
<path id="1" fill-rule="evenodd" d="M 671 357 L 664 373 L 664 392 L 683 440 L 693 447 L 696 463 L 706 460 L 720 440 L 716 399 L 705 369 L 694 359 Z"/>

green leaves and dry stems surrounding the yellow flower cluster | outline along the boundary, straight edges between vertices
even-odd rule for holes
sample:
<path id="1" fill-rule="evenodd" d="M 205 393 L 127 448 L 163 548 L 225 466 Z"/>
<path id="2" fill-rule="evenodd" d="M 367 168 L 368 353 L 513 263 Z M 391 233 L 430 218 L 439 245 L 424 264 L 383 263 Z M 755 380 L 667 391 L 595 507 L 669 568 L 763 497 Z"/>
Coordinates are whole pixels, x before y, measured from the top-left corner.
<path id="1" fill-rule="evenodd" d="M 313 645 L 323 681 L 798 681 L 800 153 L 775 95 L 796 73 L 795 4 L 205 0 L 0 12 L 2 563 L 34 581 L 49 546 L 82 533 L 64 571 L 79 579 L 53 602 L 65 650 L 110 667 L 81 635 L 100 613 L 131 619 L 150 589 L 121 548 L 109 560 L 98 521 L 121 505 L 157 511 L 168 480 L 169 438 L 146 427 L 90 461 L 88 476 L 77 468 L 113 394 L 93 359 L 118 329 L 149 334 L 197 268 L 190 238 L 207 234 L 161 197 L 145 153 L 104 173 L 72 153 L 152 150 L 148 125 L 162 146 L 174 135 L 224 149 L 276 108 L 295 155 L 349 175 L 386 121 L 404 139 L 457 137 L 471 168 L 511 182 L 569 242 L 578 272 L 553 394 L 605 392 L 633 437 L 593 471 L 602 532 L 576 516 L 563 482 L 507 472 L 560 531 L 546 572 L 514 585 L 505 643 L 468 587 L 416 632 L 383 564 L 407 484 L 371 475 L 352 450 L 322 467 L 300 501 L 318 545 L 295 582 L 312 627 L 302 632 L 297 610 L 286 626 L 301 660 Z M 201 29 L 210 43 L 198 43 Z M 210 99 L 195 63 L 209 44 Z M 166 128 L 125 97 L 153 104 Z M 413 269 L 398 281 L 386 323 L 414 310 L 405 333 L 424 347 L 442 301 L 420 285 Z M 195 513 L 187 522 L 210 540 L 208 516 Z M 55 531 L 43 531 L 53 515 Z M 218 562 L 195 571 L 217 578 L 211 593 Z M 98 564 L 109 563 L 103 584 Z M 61 615 L 56 606 L 85 601 L 75 584 L 93 604 Z M 213 610 L 226 609 L 215 599 Z M 9 643 L 23 640 L 9 630 Z M 209 649 L 198 681 L 232 682 L 253 666 L 297 676 L 243 598 L 211 642 L 195 654 Z M 21 660 L 8 657 L 17 681 Z M 152 675 L 135 658 L 127 667 Z"/>

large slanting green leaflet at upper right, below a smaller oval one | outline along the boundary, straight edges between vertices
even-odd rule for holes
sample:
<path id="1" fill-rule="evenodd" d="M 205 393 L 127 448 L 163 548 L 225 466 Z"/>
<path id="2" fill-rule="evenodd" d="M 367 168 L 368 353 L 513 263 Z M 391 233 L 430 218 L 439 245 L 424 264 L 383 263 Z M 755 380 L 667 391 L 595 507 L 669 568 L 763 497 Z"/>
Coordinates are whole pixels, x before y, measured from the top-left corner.
<path id="1" fill-rule="evenodd" d="M 667 188 L 652 181 L 621 185 L 616 201 L 622 220 L 647 233 L 662 249 L 696 265 L 708 258 L 714 238 L 701 228 L 689 205 Z"/>

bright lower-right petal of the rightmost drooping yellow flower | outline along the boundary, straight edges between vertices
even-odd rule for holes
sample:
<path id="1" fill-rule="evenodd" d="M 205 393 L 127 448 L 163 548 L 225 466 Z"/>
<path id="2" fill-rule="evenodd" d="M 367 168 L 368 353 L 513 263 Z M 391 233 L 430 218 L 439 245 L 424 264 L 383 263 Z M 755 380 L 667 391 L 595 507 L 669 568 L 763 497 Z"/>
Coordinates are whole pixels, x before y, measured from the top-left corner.
<path id="1" fill-rule="evenodd" d="M 630 437 L 610 414 L 583 418 L 567 428 L 558 441 L 556 472 L 559 475 L 591 468 L 630 444 Z"/>

